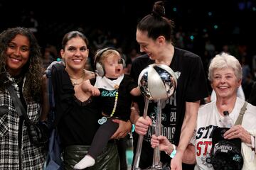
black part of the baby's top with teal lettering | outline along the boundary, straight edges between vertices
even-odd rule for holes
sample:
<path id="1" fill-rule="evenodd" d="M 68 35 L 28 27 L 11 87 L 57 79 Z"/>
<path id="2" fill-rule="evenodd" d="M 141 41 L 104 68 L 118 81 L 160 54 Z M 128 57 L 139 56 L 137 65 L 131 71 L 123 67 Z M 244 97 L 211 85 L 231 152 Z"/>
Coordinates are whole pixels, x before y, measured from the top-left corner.
<path id="1" fill-rule="evenodd" d="M 118 117 L 121 120 L 129 120 L 131 114 L 131 105 L 132 105 L 132 96 L 130 91 L 137 87 L 137 84 L 132 81 L 130 77 L 124 75 L 124 79 L 122 79 L 119 84 L 118 89 L 118 99 L 117 99 L 117 108 L 114 112 L 114 117 Z M 114 101 L 117 91 L 107 91 L 105 89 L 100 89 L 100 98 L 101 98 L 101 106 L 102 112 L 106 115 L 111 115 L 114 108 Z"/>

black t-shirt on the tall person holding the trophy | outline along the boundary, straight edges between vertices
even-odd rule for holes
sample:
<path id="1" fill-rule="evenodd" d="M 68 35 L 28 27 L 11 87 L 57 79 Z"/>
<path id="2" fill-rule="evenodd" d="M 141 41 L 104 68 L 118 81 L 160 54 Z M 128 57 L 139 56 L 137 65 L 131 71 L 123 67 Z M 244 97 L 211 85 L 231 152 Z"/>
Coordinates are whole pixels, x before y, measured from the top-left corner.
<path id="1" fill-rule="evenodd" d="M 137 59 L 132 63 L 131 76 L 135 81 L 137 81 L 140 72 L 142 72 L 142 70 L 149 64 L 153 63 L 154 61 L 150 60 L 148 55 L 137 57 Z M 162 103 L 161 135 L 166 136 L 170 142 L 178 145 L 179 137 L 181 135 L 181 126 L 186 110 L 186 101 L 199 101 L 208 96 L 208 90 L 203 64 L 198 55 L 186 50 L 174 48 L 174 57 L 171 61 L 170 67 L 174 72 L 180 72 L 181 75 L 178 77 L 177 89 L 174 95 Z M 142 115 L 144 111 L 144 98 L 137 98 L 136 101 L 139 103 L 139 110 Z M 153 123 L 156 122 L 156 112 L 157 102 L 149 101 L 148 115 Z M 147 157 L 150 159 L 153 155 L 153 149 L 150 145 L 151 135 L 153 134 L 153 128 L 149 127 L 148 132 L 144 135 L 144 142 L 147 144 L 143 144 L 142 148 L 143 150 L 147 147 L 149 151 L 151 150 L 151 152 L 146 153 Z M 135 140 L 135 143 L 136 142 L 137 141 Z M 164 162 L 169 162 L 167 155 L 164 155 L 167 159 Z M 144 156 L 142 155 L 142 157 Z M 163 160 L 161 159 L 161 161 Z"/>

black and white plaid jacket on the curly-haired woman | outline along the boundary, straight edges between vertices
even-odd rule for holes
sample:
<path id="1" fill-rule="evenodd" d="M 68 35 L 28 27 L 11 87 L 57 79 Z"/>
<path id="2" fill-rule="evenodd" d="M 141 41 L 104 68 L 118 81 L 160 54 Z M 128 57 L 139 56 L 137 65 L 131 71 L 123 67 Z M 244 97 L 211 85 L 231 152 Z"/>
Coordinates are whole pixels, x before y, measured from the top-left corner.
<path id="1" fill-rule="evenodd" d="M 14 79 L 9 77 L 12 86 L 18 97 L 18 86 Z M 24 79 L 24 82 L 26 78 Z M 24 86 L 24 84 L 23 84 Z M 36 102 L 27 102 L 28 118 L 32 122 L 37 122 L 40 117 L 41 105 Z M 0 91 L 0 169 L 43 169 L 43 163 L 46 158 L 46 153 L 43 147 L 35 147 L 31 144 L 28 138 L 28 132 L 25 123 L 23 122 L 22 137 L 21 137 L 21 166 L 19 167 L 18 160 L 18 125 L 19 117 L 16 113 L 14 103 L 11 101 L 9 91 Z"/>

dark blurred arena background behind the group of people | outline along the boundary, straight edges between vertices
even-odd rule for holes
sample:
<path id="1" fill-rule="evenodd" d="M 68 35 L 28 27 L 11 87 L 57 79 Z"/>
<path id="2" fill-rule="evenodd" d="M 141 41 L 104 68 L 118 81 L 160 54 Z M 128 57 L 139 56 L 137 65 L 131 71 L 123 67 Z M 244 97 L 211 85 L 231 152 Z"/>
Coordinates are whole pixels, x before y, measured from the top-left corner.
<path id="1" fill-rule="evenodd" d="M 132 56 L 139 55 L 135 39 L 137 23 L 151 13 L 154 2 L 0 0 L 0 32 L 16 26 L 33 27 L 31 18 L 36 19 L 38 26 L 35 35 L 42 47 L 44 67 L 51 62 L 45 57 L 46 50 L 50 50 L 52 59 L 56 60 L 63 35 L 70 30 L 80 30 L 89 39 L 90 61 L 93 61 L 97 50 L 94 42 L 107 38 L 108 45 L 120 48 L 127 56 L 127 61 L 131 62 Z M 247 99 L 256 80 L 256 0 L 165 2 L 166 17 L 176 25 L 175 46 L 201 56 L 207 74 L 211 58 L 227 45 L 228 52 L 242 64 L 242 88 Z M 137 53 L 132 53 L 134 49 Z"/>

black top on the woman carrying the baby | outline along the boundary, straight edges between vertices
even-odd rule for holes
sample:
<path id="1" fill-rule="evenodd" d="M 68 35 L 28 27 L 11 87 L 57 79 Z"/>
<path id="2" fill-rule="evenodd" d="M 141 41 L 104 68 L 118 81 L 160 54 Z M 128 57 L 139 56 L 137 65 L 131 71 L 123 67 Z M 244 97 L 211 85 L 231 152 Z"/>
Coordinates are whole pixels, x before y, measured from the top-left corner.
<path id="1" fill-rule="evenodd" d="M 97 98 L 91 97 L 85 102 L 75 98 L 74 86 L 62 64 L 53 65 L 53 91 L 55 113 L 60 141 L 63 147 L 68 145 L 91 145 L 99 128 L 97 120 L 101 116 Z"/>

